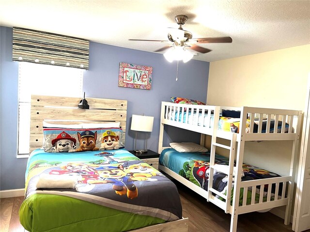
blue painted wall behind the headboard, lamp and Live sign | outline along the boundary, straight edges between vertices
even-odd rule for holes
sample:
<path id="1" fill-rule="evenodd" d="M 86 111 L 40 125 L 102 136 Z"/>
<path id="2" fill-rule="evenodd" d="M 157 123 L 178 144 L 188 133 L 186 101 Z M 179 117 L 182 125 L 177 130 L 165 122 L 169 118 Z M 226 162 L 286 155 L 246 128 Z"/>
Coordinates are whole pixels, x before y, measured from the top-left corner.
<path id="1" fill-rule="evenodd" d="M 175 81 L 177 63 L 169 63 L 163 55 L 90 43 L 90 68 L 84 71 L 83 89 L 87 97 L 124 99 L 127 105 L 125 148 L 133 149 L 135 132 L 130 131 L 131 116 L 154 116 L 153 131 L 149 133 L 148 148 L 157 151 L 159 116 L 162 101 L 170 97 L 185 97 L 206 102 L 209 62 L 190 60 L 179 63 L 178 81 Z M 153 67 L 151 90 L 118 87 L 119 63 Z M 17 159 L 18 62 L 12 61 L 12 28 L 0 27 L 0 190 L 24 188 L 27 159 Z M 193 141 L 200 136 L 194 132 L 165 127 L 164 145 L 170 141 Z M 182 131 L 182 130 L 181 130 Z M 165 133 L 166 134 L 166 133 Z M 9 137 L 8 137 L 9 136 Z M 139 134 L 138 146 L 144 146 L 144 134 Z"/>

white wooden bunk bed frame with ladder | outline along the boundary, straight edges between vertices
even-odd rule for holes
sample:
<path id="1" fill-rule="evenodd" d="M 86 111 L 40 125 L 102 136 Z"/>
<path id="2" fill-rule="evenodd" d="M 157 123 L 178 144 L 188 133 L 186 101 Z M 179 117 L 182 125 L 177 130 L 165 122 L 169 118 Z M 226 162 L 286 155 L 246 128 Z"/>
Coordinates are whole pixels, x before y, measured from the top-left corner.
<path id="1" fill-rule="evenodd" d="M 186 109 L 186 110 L 185 110 Z M 218 118 L 222 110 L 233 110 L 240 111 L 240 126 L 239 133 L 232 133 L 228 131 L 218 130 Z M 200 120 L 198 114 L 189 117 L 188 112 L 201 112 L 201 117 L 206 117 L 206 124 L 203 126 L 203 119 Z M 174 114 L 172 115 L 172 112 Z M 177 112 L 177 116 L 175 115 Z M 194 114 L 193 114 L 194 115 Z M 211 115 L 214 116 L 214 120 L 210 125 Z M 188 118 L 184 122 L 184 117 Z M 191 120 L 189 120 L 189 118 Z M 250 119 L 250 130 L 246 133 L 246 122 L 247 118 Z M 258 132 L 253 132 L 254 118 L 259 118 L 258 120 Z M 266 133 L 262 133 L 263 118 L 267 118 L 266 123 Z M 302 111 L 297 110 L 280 110 L 280 109 L 269 109 L 269 108 L 254 108 L 254 107 L 220 107 L 211 105 L 187 105 L 187 104 L 177 104 L 171 102 L 161 103 L 161 116 L 160 116 L 160 130 L 159 130 L 159 143 L 158 143 L 158 153 L 160 154 L 164 148 L 163 147 L 163 136 L 164 136 L 164 125 L 170 125 L 189 131 L 196 131 L 202 133 L 201 145 L 205 145 L 205 135 L 211 136 L 211 153 L 210 153 L 210 175 L 208 182 L 208 191 L 198 187 L 197 185 L 186 180 L 179 174 L 174 173 L 170 169 L 159 164 L 159 170 L 171 175 L 177 181 L 191 188 L 192 190 L 199 193 L 202 197 L 207 199 L 207 201 L 216 204 L 218 207 L 223 209 L 225 213 L 230 213 L 231 217 L 231 232 L 236 232 L 237 230 L 237 219 L 239 214 L 244 214 L 248 212 L 267 210 L 270 208 L 285 205 L 285 221 L 284 223 L 288 225 L 290 223 L 292 201 L 293 201 L 293 189 L 294 189 L 294 174 L 295 174 L 295 164 L 296 164 L 296 154 L 298 152 L 298 142 L 299 142 L 299 132 L 300 124 L 302 118 Z M 269 133 L 270 130 L 270 120 L 274 119 L 274 125 L 278 125 L 279 120 L 282 122 L 287 122 L 289 124 L 288 132 L 285 131 L 285 123 L 282 123 L 281 132 L 277 133 L 278 130 L 274 130 L 274 133 Z M 199 125 L 201 124 L 201 125 Z M 294 127 L 294 128 L 293 128 Z M 223 145 L 218 142 L 217 138 L 223 138 L 230 141 L 230 145 Z M 290 165 L 290 173 L 287 176 L 259 179 L 259 180 L 249 180 L 241 181 L 242 174 L 242 164 L 244 158 L 244 149 L 246 141 L 276 141 L 285 140 L 293 141 L 292 147 L 292 157 Z M 243 200 L 243 204 L 239 206 L 239 199 L 233 198 L 233 203 L 231 205 L 230 194 L 228 196 L 218 192 L 216 189 L 212 188 L 213 183 L 213 173 L 214 173 L 214 163 L 215 163 L 215 153 L 216 147 L 221 147 L 229 150 L 229 172 L 228 175 L 228 185 L 227 192 L 232 191 L 232 179 L 233 179 L 233 160 L 236 160 L 237 175 L 235 176 L 233 195 L 239 196 L 240 189 L 244 188 L 243 199 L 247 199 L 248 189 L 252 188 L 251 203 L 247 205 L 247 201 Z M 279 194 L 278 199 L 271 199 L 271 186 L 275 184 L 275 192 Z M 283 185 L 282 192 L 279 192 L 280 184 Z M 268 185 L 267 200 L 263 201 L 263 186 Z M 255 190 L 257 186 L 260 188 L 260 198 L 258 202 L 255 202 Z M 214 194 L 225 199 L 221 201 L 214 196 Z"/>

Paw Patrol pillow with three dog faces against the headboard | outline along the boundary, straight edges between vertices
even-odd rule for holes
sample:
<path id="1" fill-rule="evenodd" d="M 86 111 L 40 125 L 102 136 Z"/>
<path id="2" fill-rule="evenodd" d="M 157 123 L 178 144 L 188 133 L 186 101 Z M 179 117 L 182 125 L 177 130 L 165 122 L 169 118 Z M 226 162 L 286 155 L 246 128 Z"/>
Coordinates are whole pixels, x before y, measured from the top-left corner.
<path id="1" fill-rule="evenodd" d="M 46 152 L 77 152 L 124 148 L 124 132 L 120 128 L 44 128 Z"/>

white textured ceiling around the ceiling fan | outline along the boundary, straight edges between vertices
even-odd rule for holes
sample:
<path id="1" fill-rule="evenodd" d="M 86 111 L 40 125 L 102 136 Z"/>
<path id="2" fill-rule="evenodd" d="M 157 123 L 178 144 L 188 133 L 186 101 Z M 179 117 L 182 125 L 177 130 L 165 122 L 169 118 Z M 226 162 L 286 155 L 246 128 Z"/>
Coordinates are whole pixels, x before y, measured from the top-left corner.
<path id="1" fill-rule="evenodd" d="M 205 43 L 194 59 L 216 61 L 310 43 L 309 0 L 0 0 L 0 25 L 37 29 L 153 52 L 168 27 L 185 14 L 193 38 L 230 36 Z M 163 52 L 161 52 L 163 53 Z"/>

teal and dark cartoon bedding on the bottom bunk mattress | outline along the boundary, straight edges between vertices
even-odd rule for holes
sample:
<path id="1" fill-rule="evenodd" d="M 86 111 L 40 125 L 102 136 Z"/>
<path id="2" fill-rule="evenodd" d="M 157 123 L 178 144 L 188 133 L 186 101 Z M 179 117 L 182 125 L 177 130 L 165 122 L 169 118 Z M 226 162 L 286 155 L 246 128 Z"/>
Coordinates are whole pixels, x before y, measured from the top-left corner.
<path id="1" fill-rule="evenodd" d="M 186 152 L 178 152 L 173 148 L 166 148 L 162 151 L 159 164 L 167 167 L 171 171 L 176 174 L 179 174 L 186 178 L 188 181 L 196 184 L 197 186 L 203 188 L 204 190 L 208 190 L 208 179 L 209 179 L 209 161 L 210 161 L 210 152 L 206 153 L 186 153 Z M 213 188 L 217 191 L 227 194 L 227 181 L 228 177 L 225 173 L 227 173 L 229 160 L 226 157 L 220 156 L 216 154 L 215 157 L 215 169 L 213 175 Z M 235 169 L 235 168 L 234 168 Z M 233 176 L 235 175 L 235 170 L 233 171 Z M 256 179 L 264 179 L 271 177 L 279 177 L 280 175 L 269 172 L 267 170 L 243 164 L 243 172 L 242 172 L 242 181 L 246 180 L 256 180 Z M 233 177 L 234 179 L 234 177 Z M 266 186 L 267 187 L 267 186 Z M 264 189 L 264 201 L 266 200 L 265 196 L 267 195 L 267 188 Z M 282 185 L 279 186 L 279 192 L 282 191 Z M 251 189 L 248 189 L 248 198 L 247 204 L 251 203 Z M 278 192 L 278 193 L 279 193 Z M 233 201 L 233 190 L 232 190 L 232 201 Z M 260 194 L 260 186 L 256 188 L 255 201 L 259 200 Z M 240 190 L 240 198 L 239 204 L 242 205 L 243 201 L 243 188 Z M 275 196 L 275 186 L 272 186 L 271 196 L 274 199 Z M 218 197 L 218 196 L 217 196 Z M 220 197 L 218 197 L 220 198 Z M 221 198 L 220 198 L 221 199 Z M 222 200 L 222 199 L 221 199 Z"/>

